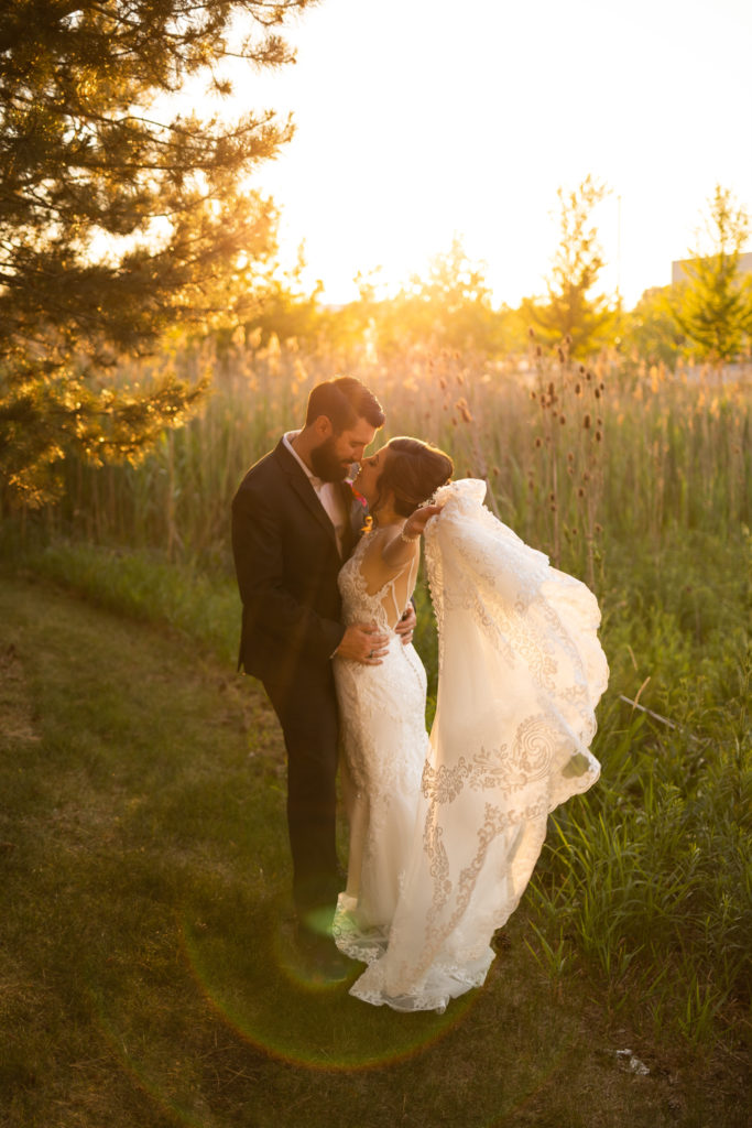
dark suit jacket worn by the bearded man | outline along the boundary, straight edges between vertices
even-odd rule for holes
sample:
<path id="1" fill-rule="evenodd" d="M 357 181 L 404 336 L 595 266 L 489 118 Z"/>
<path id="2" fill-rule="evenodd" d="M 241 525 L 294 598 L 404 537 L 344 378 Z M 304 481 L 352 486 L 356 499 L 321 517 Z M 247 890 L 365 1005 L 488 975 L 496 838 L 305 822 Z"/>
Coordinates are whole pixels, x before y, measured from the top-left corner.
<path id="1" fill-rule="evenodd" d="M 232 552 L 242 600 L 238 668 L 286 680 L 301 663 L 328 662 L 345 633 L 337 574 L 364 510 L 342 483 L 348 521 L 339 556 L 334 526 L 281 440 L 256 462 L 232 502 Z"/>

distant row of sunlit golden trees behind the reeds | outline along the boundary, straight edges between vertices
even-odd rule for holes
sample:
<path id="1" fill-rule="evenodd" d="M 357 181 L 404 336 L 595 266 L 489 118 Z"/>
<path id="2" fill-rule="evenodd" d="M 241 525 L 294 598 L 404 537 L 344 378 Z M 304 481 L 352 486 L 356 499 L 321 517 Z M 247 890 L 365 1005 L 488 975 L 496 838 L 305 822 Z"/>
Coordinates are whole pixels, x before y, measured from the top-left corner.
<path id="1" fill-rule="evenodd" d="M 707 245 L 690 252 L 684 280 L 647 290 L 631 310 L 618 294 L 599 290 L 604 261 L 592 212 L 603 195 L 592 177 L 559 188 L 559 243 L 546 293 L 517 307 L 494 305 L 485 265 L 470 259 L 454 237 L 423 276 L 414 275 L 396 293 L 380 294 L 375 272 L 359 276 L 357 299 L 337 308 L 322 303 L 320 288 L 306 290 L 302 264 L 277 273 L 259 290 L 260 307 L 244 328 L 260 346 L 274 335 L 311 345 L 325 340 L 346 350 L 368 337 L 386 356 L 414 344 L 488 356 L 524 354 L 531 338 L 545 350 L 564 343 L 568 355 L 582 361 L 603 350 L 670 368 L 680 358 L 722 365 L 747 356 L 752 276 L 740 273 L 740 258 L 749 217 L 732 193 L 718 186 L 708 201 Z"/>

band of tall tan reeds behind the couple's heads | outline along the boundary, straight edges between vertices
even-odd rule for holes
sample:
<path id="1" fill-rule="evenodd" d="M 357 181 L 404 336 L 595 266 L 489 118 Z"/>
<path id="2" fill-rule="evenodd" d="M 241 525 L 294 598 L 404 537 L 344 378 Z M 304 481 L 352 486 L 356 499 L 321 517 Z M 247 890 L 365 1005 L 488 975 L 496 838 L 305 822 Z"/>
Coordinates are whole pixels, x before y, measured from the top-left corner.
<path id="1" fill-rule="evenodd" d="M 159 547 L 171 559 L 227 561 L 228 506 L 245 469 L 285 428 L 300 425 L 308 391 L 347 371 L 379 395 L 384 437 L 417 434 L 445 449 L 458 476 L 489 484 L 489 501 L 525 539 L 592 584 L 605 540 L 661 550 L 667 534 L 707 529 L 735 538 L 752 523 L 751 385 L 711 373 L 589 367 L 566 349 L 492 361 L 417 346 L 388 367 L 368 347 L 302 354 L 275 337 L 242 335 L 175 345 L 121 379 L 144 385 L 174 371 L 211 376 L 193 421 L 168 432 L 136 466 L 67 465 L 65 502 L 51 531 Z"/>

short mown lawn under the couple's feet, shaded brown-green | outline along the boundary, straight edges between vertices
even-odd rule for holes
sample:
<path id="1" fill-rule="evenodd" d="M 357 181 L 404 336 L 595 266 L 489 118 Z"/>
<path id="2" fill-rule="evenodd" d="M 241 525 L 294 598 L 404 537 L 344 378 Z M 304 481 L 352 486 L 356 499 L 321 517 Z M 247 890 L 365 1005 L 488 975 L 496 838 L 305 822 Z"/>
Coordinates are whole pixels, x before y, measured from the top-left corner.
<path id="1" fill-rule="evenodd" d="M 254 684 L 30 576 L 0 580 L 0 623 L 2 1128 L 746 1123 L 742 1059 L 548 981 L 524 900 L 444 1015 L 308 988 Z"/>

